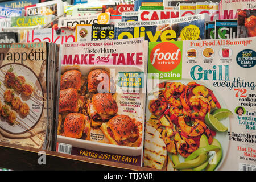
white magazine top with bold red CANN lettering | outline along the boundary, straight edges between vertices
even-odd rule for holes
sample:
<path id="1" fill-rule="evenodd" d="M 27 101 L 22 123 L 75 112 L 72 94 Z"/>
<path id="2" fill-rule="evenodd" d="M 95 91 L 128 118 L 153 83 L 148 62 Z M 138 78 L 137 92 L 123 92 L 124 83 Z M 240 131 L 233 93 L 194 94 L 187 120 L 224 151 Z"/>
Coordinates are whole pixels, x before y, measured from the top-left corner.
<path id="1" fill-rule="evenodd" d="M 139 21 L 179 18 L 179 10 L 139 10 Z"/>

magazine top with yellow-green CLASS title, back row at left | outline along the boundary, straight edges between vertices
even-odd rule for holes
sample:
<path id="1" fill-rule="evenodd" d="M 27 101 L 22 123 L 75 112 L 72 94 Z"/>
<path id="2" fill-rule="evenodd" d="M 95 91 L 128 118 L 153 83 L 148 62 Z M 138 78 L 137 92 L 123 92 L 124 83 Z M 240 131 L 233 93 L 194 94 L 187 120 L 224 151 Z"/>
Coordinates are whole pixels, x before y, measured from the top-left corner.
<path id="1" fill-rule="evenodd" d="M 43 27 L 44 25 L 51 23 L 53 18 L 53 15 L 13 17 L 11 18 L 11 27 Z"/>

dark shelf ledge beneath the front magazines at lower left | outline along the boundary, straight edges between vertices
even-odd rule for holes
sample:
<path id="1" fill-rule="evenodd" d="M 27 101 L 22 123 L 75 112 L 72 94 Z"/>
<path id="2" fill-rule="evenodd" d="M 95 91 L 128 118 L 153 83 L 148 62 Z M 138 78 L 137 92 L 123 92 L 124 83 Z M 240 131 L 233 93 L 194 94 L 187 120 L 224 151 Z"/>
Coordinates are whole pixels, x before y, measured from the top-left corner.
<path id="1" fill-rule="evenodd" d="M 91 159 L 84 156 L 61 154 L 58 152 L 44 151 L 46 153 L 46 165 L 39 164 L 40 150 L 30 147 L 19 147 L 0 142 L 0 167 L 20 170 L 66 170 L 66 171 L 152 171 L 152 168 L 144 168 L 129 164 L 106 162 L 100 159 Z"/>

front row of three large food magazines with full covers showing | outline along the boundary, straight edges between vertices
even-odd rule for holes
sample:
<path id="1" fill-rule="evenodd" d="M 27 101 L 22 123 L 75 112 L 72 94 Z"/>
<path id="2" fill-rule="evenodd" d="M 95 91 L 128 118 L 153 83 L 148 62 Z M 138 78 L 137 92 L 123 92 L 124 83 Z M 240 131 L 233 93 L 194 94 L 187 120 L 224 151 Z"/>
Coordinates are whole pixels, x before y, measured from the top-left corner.
<path id="1" fill-rule="evenodd" d="M 255 46 L 0 44 L 0 140 L 162 170 L 254 170 Z"/>

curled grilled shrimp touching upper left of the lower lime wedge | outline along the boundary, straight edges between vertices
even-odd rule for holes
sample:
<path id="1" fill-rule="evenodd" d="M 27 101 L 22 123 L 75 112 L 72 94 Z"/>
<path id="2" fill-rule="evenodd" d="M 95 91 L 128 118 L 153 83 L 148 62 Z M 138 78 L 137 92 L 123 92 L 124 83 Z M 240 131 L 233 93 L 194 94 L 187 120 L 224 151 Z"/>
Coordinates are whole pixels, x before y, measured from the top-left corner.
<path id="1" fill-rule="evenodd" d="M 189 102 L 193 110 L 192 118 L 204 119 L 205 115 L 210 112 L 210 102 L 203 96 L 192 96 Z"/>

